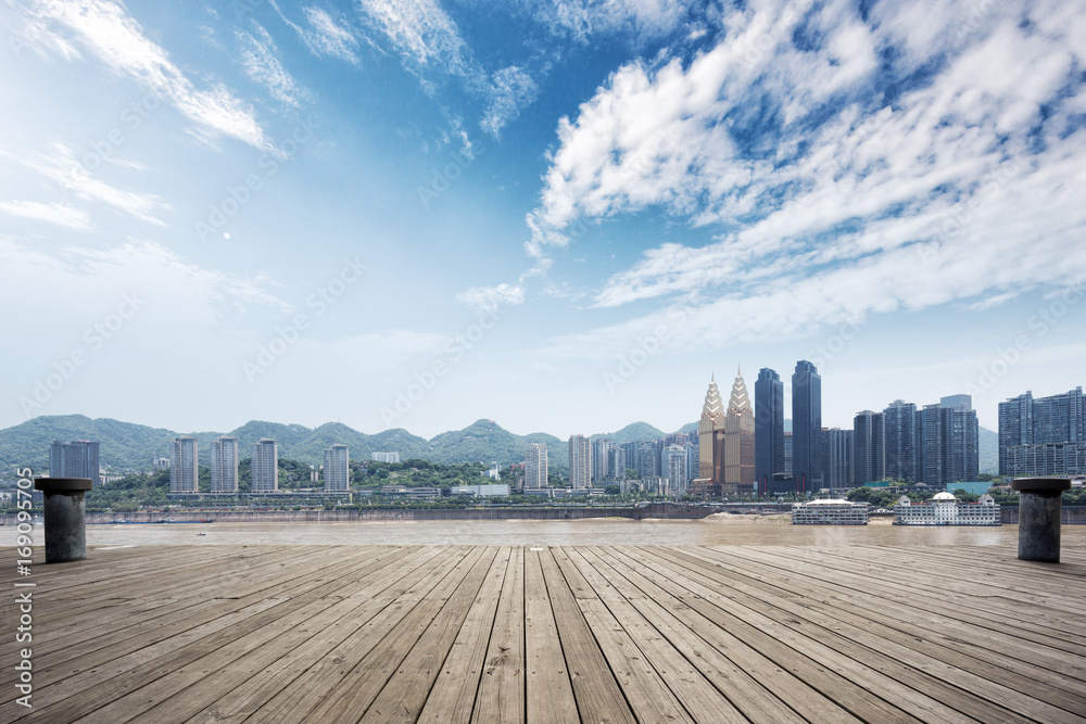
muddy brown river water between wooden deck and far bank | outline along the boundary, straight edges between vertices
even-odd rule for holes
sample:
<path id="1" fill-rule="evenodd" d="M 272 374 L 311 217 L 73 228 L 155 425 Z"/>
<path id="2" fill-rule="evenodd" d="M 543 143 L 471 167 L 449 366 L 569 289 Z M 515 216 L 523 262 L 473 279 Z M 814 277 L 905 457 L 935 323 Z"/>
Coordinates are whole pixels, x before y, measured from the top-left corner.
<path id="1" fill-rule="evenodd" d="M 0 546 L 15 543 L 14 526 L 0 528 Z M 200 535 L 203 534 L 203 535 Z M 43 530 L 34 529 L 43 544 Z M 1086 525 L 1064 525 L 1062 544 L 1086 548 Z M 88 547 L 142 545 L 849 545 L 1006 546 L 1016 549 L 1018 525 L 925 528 L 792 525 L 786 520 L 724 516 L 706 520 L 573 521 L 463 520 L 332 523 L 159 523 L 87 526 Z"/>

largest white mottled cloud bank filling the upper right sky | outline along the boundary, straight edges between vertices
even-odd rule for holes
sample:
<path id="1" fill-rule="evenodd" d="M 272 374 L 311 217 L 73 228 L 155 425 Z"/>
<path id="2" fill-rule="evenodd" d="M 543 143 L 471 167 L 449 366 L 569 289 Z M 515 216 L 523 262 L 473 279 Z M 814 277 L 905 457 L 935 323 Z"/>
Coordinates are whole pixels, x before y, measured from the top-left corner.
<path id="1" fill-rule="evenodd" d="M 648 250 L 595 304 L 679 299 L 717 344 L 1082 274 L 1086 17 L 920 4 L 753 2 L 689 64 L 622 66 L 559 123 L 529 253 L 645 209 L 714 230 Z"/>

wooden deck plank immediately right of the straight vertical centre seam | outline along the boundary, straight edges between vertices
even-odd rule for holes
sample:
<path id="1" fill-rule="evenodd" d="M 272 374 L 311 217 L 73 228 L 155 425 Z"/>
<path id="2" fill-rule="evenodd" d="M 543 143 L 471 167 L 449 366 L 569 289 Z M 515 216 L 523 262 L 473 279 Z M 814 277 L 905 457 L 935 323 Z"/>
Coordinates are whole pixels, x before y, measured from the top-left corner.
<path id="1" fill-rule="evenodd" d="M 525 658 L 528 724 L 579 721 L 538 550 L 525 552 Z"/>

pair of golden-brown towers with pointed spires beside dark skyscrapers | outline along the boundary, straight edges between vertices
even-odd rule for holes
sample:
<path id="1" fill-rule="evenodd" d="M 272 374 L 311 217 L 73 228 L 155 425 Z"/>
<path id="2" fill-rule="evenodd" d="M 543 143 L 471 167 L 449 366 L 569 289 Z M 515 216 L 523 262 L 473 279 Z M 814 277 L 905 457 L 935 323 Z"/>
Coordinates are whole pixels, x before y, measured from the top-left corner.
<path id="1" fill-rule="evenodd" d="M 754 405 L 742 370 L 735 373 L 727 409 L 714 376 L 697 425 L 698 475 L 691 483 L 691 495 L 708 498 L 755 492 L 754 430 Z"/>

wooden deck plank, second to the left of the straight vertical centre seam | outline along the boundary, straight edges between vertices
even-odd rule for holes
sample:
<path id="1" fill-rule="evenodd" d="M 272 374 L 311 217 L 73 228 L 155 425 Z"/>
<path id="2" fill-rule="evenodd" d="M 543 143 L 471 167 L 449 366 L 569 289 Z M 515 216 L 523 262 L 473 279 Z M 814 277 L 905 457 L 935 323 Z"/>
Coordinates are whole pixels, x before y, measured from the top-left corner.
<path id="1" fill-rule="evenodd" d="M 494 628 L 494 618 L 512 556 L 512 548 L 498 549 L 487 580 L 430 689 L 418 724 L 470 724 L 479 681 L 487 663 L 487 646 Z M 523 681 L 522 676 L 520 681 Z"/>

